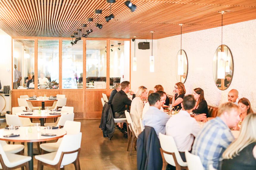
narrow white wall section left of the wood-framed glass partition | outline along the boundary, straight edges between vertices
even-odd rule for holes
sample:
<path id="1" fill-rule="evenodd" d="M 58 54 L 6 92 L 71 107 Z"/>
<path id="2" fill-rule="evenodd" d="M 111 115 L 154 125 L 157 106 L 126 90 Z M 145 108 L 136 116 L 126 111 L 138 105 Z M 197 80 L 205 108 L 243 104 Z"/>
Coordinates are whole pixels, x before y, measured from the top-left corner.
<path id="1" fill-rule="evenodd" d="M 0 29 L 0 81 L 2 89 L 4 86 L 12 88 L 12 38 Z M 6 107 L 3 112 L 10 110 L 10 97 L 4 96 L 6 100 Z M 0 97 L 0 110 L 2 110 L 4 100 Z"/>

